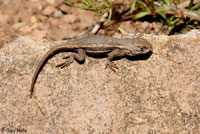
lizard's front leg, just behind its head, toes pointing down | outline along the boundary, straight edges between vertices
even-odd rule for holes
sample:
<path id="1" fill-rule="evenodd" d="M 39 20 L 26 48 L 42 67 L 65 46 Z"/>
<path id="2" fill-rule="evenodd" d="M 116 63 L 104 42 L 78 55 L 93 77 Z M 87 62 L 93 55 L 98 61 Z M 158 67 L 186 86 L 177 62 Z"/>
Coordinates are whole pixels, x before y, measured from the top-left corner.
<path id="1" fill-rule="evenodd" d="M 120 50 L 120 49 L 113 50 L 111 53 L 108 54 L 106 68 L 110 67 L 115 72 L 115 69 L 117 69 L 117 66 L 112 62 L 112 60 L 115 57 L 123 57 L 125 55 L 126 54 L 123 50 Z"/>

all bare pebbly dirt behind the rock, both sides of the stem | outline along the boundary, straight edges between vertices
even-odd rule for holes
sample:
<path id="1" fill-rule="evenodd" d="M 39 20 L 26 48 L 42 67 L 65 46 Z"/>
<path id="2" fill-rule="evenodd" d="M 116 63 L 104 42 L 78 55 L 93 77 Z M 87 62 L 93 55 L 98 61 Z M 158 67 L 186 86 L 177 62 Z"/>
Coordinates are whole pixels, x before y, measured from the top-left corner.
<path id="1" fill-rule="evenodd" d="M 80 0 L 68 0 L 80 5 Z M 119 0 L 120 1 L 120 0 Z M 124 1 L 123 1 L 124 2 Z M 63 0 L 0 0 L 0 48 L 19 36 L 45 38 L 50 41 L 77 36 L 92 29 L 100 20 L 95 12 L 66 6 Z M 155 22 L 111 21 L 99 34 L 165 34 L 166 26 Z"/>

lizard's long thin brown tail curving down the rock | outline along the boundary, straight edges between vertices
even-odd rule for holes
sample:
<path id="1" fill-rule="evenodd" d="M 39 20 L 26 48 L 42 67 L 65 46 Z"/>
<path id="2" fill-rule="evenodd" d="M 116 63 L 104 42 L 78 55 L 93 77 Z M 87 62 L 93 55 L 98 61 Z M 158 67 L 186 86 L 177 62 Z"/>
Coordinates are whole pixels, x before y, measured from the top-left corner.
<path id="1" fill-rule="evenodd" d="M 42 59 L 40 60 L 39 64 L 36 67 L 36 70 L 33 74 L 33 78 L 32 78 L 32 83 L 31 83 L 31 88 L 30 88 L 30 98 L 32 98 L 33 96 L 33 92 L 34 92 L 34 85 L 35 82 L 37 80 L 38 74 L 40 73 L 40 71 L 42 70 L 43 66 L 45 65 L 46 61 L 53 55 L 55 55 L 58 51 L 63 50 L 63 51 L 72 51 L 74 48 L 68 48 L 66 47 L 66 44 L 63 45 L 58 45 L 55 46 L 53 48 L 51 48 L 48 52 L 46 52 L 46 54 L 42 57 Z"/>

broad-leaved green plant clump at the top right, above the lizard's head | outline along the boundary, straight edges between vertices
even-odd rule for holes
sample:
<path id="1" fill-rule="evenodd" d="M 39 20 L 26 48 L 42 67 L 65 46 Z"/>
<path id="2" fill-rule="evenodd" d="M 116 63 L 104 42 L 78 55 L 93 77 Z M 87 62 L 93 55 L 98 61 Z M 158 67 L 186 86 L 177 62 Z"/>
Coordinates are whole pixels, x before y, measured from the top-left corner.
<path id="1" fill-rule="evenodd" d="M 169 30 L 167 30 L 166 34 L 173 34 L 174 31 L 185 33 L 185 27 L 195 28 L 193 26 L 194 19 L 185 18 L 183 14 L 179 17 L 176 17 L 175 14 L 167 15 L 165 13 L 167 10 L 169 10 L 167 6 L 174 6 L 175 8 L 178 8 L 177 5 L 179 3 L 180 1 L 176 0 L 135 0 L 131 5 L 131 13 L 136 11 L 135 15 L 133 16 L 133 19 L 135 20 L 148 15 L 152 18 L 156 18 L 158 22 L 169 26 Z M 191 0 L 188 9 L 194 11 L 199 7 L 200 4 L 194 5 L 193 0 Z M 200 11 L 196 11 L 195 13 L 198 14 Z"/>

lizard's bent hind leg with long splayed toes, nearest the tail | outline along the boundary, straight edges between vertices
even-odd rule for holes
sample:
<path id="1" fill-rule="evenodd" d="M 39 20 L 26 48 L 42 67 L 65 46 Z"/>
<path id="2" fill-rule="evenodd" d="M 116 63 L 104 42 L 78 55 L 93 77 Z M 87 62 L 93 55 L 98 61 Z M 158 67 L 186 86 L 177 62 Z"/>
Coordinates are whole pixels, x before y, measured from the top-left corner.
<path id="1" fill-rule="evenodd" d="M 70 64 L 72 64 L 74 62 L 74 59 L 77 61 L 80 61 L 80 62 L 84 61 L 85 60 L 85 50 L 78 49 L 77 53 L 72 53 L 72 54 L 68 55 L 67 57 L 64 57 L 63 59 L 66 59 L 66 61 L 64 63 L 57 65 L 56 67 L 61 67 L 61 68 L 68 67 Z"/>

